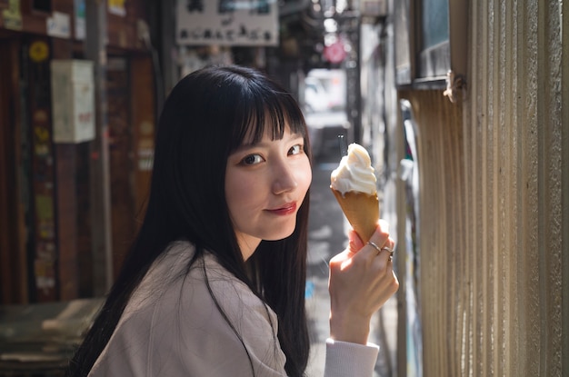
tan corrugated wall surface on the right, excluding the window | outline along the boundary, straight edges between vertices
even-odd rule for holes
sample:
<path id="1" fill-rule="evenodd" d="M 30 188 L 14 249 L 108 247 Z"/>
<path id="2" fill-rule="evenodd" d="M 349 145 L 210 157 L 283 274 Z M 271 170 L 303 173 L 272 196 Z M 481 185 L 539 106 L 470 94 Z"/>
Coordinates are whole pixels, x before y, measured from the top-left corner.
<path id="1" fill-rule="evenodd" d="M 425 376 L 569 375 L 569 2 L 471 1 L 418 127 Z M 563 25 L 563 27 L 562 27 Z"/>

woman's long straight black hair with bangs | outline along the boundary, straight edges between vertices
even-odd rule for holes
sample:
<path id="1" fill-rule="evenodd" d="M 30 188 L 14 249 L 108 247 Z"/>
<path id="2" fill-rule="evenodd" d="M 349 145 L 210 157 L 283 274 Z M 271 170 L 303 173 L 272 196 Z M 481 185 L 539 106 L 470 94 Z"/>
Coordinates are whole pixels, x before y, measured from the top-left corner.
<path id="1" fill-rule="evenodd" d="M 277 314 L 278 342 L 290 376 L 304 374 L 309 337 L 304 310 L 309 193 L 294 233 L 262 241 L 245 263 L 225 201 L 227 158 L 266 130 L 279 139 L 286 126 L 304 135 L 304 116 L 291 94 L 265 74 L 235 65 L 209 66 L 175 85 L 160 115 L 144 221 L 105 304 L 70 362 L 68 376 L 86 376 L 115 331 L 126 303 L 156 258 L 176 240 L 195 244 L 251 287 Z M 189 267 L 188 265 L 188 270 Z M 254 273 L 251 273 L 251 272 Z M 214 298 L 215 299 L 215 298 Z"/>

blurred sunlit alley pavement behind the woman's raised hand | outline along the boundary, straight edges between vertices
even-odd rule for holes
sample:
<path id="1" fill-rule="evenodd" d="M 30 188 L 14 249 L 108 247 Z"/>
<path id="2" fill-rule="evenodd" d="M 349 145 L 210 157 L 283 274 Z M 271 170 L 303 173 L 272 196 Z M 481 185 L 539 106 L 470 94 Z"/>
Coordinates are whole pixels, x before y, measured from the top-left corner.
<path id="1" fill-rule="evenodd" d="M 311 332 L 312 354 L 307 376 L 324 375 L 325 340 L 329 336 L 330 299 L 328 295 L 328 261 L 347 245 L 349 223 L 330 191 L 330 174 L 340 162 L 334 141 L 326 144 L 314 159 L 308 234 L 308 272 L 306 312 Z M 372 323 L 370 342 L 380 345 L 375 377 L 393 377 L 396 371 L 397 305 L 392 298 L 377 313 Z M 355 377 L 355 376 L 354 376 Z"/>

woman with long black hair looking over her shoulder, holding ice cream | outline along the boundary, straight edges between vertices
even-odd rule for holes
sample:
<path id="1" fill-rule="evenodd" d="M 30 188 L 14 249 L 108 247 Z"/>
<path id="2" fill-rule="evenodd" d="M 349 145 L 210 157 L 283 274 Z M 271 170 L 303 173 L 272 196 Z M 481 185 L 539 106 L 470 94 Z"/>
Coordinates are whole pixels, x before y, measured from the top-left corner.
<path id="1" fill-rule="evenodd" d="M 264 75 L 212 66 L 181 80 L 144 222 L 68 375 L 304 375 L 309 151 L 294 98 Z M 369 321 L 397 289 L 388 253 L 350 239 L 331 262 L 328 376 L 365 363 L 371 375 Z M 394 244 L 379 225 L 372 240 Z"/>

